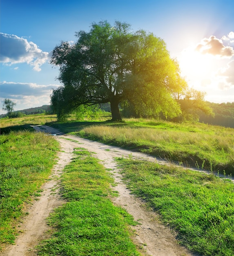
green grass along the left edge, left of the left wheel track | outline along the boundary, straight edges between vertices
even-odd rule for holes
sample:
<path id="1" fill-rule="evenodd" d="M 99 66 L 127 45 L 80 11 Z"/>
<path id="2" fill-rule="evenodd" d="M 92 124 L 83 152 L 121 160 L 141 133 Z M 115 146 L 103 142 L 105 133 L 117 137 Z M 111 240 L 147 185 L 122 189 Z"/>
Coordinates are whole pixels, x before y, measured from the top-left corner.
<path id="1" fill-rule="evenodd" d="M 13 243 L 25 203 L 38 195 L 58 150 L 51 136 L 20 131 L 0 136 L 0 247 Z"/>

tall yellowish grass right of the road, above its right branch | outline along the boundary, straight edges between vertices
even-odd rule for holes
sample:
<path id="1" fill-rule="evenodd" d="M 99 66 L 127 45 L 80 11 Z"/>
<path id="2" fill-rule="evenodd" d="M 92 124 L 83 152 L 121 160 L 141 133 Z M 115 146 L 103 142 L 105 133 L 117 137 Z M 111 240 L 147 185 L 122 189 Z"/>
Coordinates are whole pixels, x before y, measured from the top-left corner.
<path id="1" fill-rule="evenodd" d="M 171 161 L 183 162 L 190 166 L 203 166 L 211 171 L 225 170 L 234 175 L 234 129 L 214 127 L 211 130 L 165 123 L 149 128 L 127 124 L 115 126 L 89 126 L 78 134 L 103 143 L 115 144 L 150 153 Z M 186 128 L 186 129 L 185 129 Z M 204 126 L 207 128 L 207 126 Z"/>

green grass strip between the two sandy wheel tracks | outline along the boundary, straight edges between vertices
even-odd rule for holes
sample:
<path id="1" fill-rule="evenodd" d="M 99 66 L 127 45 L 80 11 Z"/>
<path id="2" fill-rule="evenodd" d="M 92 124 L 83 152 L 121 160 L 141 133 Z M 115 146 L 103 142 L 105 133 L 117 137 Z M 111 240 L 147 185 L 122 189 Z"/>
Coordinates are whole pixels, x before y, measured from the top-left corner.
<path id="1" fill-rule="evenodd" d="M 108 198 L 113 179 L 98 159 L 77 148 L 62 175 L 62 195 L 68 200 L 51 214 L 56 231 L 38 247 L 43 256 L 136 256 L 130 237 L 133 217 Z"/>

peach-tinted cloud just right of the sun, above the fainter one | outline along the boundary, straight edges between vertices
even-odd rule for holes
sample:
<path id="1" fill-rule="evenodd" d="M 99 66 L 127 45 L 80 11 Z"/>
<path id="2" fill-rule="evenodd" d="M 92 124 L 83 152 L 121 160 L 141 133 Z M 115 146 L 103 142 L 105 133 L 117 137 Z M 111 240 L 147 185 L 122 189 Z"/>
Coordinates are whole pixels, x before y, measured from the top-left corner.
<path id="1" fill-rule="evenodd" d="M 226 40 L 227 37 L 223 38 Z M 196 51 L 202 54 L 211 54 L 221 58 L 231 58 L 234 56 L 233 47 L 223 45 L 223 40 L 218 39 L 215 36 L 203 38 L 203 40 L 201 40 L 201 42 L 196 46 Z"/>

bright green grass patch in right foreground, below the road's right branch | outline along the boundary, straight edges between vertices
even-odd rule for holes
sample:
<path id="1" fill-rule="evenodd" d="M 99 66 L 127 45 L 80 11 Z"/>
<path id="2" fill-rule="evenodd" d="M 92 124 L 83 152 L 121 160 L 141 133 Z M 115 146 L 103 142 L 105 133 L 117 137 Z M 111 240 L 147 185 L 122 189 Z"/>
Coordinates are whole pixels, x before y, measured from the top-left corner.
<path id="1" fill-rule="evenodd" d="M 132 193 L 146 200 L 187 248 L 234 255 L 234 184 L 212 173 L 118 159 Z"/>

